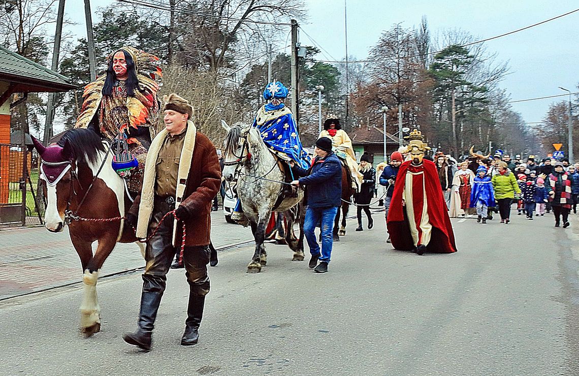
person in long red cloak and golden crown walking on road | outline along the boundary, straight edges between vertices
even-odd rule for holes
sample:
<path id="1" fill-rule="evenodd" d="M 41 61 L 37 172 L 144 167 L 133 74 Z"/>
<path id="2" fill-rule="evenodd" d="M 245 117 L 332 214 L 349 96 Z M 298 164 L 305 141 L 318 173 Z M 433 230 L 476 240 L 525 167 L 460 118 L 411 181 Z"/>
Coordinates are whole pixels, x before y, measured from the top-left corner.
<path id="1" fill-rule="evenodd" d="M 456 252 L 455 235 L 433 162 L 424 158 L 430 148 L 421 140 L 408 145 L 411 160 L 402 163 L 390 203 L 387 227 L 395 249 Z"/>

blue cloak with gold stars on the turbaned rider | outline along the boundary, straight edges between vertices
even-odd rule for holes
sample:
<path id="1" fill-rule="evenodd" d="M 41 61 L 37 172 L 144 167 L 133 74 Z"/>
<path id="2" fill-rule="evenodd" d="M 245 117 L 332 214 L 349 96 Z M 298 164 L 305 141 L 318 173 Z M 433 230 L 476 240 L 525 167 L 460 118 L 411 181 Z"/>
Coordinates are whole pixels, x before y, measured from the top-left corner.
<path id="1" fill-rule="evenodd" d="M 253 126 L 274 154 L 285 160 L 293 159 L 302 169 L 309 169 L 310 156 L 299 140 L 294 116 L 283 103 L 277 106 L 266 104 L 259 108 Z"/>

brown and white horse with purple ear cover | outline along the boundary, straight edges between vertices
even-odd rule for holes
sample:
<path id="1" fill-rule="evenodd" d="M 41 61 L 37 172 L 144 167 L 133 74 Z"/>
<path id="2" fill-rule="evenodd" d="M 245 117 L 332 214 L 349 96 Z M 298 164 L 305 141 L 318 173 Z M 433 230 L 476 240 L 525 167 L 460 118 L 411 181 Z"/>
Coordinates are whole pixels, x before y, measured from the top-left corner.
<path id="1" fill-rule="evenodd" d="M 100 330 L 97 279 L 117 242 L 137 242 L 132 228 L 123 231 L 130 207 L 123 179 L 112 169 L 109 144 L 89 129 L 71 129 L 57 144 L 44 147 L 34 139 L 42 158 L 40 182 L 47 199 L 45 226 L 69 235 L 83 269 L 80 330 L 86 337 Z M 93 254 L 92 244 L 98 242 Z M 144 253 L 144 246 L 141 253 Z"/>

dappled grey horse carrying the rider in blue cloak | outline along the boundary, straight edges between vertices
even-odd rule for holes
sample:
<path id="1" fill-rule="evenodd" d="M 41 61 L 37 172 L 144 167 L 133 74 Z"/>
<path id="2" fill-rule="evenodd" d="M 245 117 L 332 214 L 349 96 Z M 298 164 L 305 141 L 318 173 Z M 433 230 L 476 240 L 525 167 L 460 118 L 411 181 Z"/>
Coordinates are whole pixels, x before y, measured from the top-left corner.
<path id="1" fill-rule="evenodd" d="M 273 211 L 284 213 L 287 223 L 285 241 L 294 251 L 292 261 L 303 261 L 303 188 L 298 189 L 295 197 L 289 195 L 284 198 L 284 167 L 269 151 L 259 131 L 251 125 L 229 126 L 225 121 L 221 123 L 227 131 L 223 143 L 223 177 L 227 181 L 237 181 L 237 196 L 255 239 L 255 253 L 247 272 L 259 273 L 267 263 L 263 240 Z M 294 233 L 295 224 L 299 225 L 299 238 Z"/>

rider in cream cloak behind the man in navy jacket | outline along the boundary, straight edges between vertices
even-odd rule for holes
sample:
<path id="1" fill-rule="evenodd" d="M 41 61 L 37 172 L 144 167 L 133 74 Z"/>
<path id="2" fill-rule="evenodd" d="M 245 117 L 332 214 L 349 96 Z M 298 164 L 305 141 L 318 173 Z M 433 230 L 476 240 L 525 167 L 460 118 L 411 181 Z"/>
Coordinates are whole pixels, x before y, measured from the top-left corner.
<path id="1" fill-rule="evenodd" d="M 328 118 L 324 121 L 324 130 L 320 133 L 320 137 L 328 137 L 332 140 L 334 152 L 338 158 L 345 163 L 350 173 L 352 188 L 360 191 L 364 176 L 358 171 L 358 163 L 356 163 L 356 153 L 354 153 L 354 148 L 352 147 L 352 140 L 350 140 L 350 136 L 348 136 L 346 131 L 340 126 L 338 116 L 333 114 L 328 115 Z"/>

